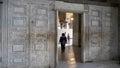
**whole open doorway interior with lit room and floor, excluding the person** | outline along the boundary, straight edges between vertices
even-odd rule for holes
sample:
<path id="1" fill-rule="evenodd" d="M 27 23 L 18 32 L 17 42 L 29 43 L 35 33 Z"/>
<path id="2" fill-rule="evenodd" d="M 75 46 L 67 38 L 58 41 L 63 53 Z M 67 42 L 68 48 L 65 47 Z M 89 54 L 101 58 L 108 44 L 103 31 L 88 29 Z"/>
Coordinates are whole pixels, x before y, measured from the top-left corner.
<path id="1" fill-rule="evenodd" d="M 57 56 L 58 62 L 82 62 L 82 13 L 57 12 Z M 65 52 L 61 52 L 59 39 L 65 33 L 67 43 Z"/>

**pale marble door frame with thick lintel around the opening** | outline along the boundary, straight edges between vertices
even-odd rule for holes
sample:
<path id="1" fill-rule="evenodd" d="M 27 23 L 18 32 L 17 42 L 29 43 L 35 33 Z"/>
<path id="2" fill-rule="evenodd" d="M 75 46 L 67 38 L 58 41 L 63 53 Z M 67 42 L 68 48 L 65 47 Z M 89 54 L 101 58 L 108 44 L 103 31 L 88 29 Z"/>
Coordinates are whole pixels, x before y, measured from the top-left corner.
<path id="1" fill-rule="evenodd" d="M 82 55 L 82 62 L 85 62 L 85 52 L 84 52 L 84 47 L 85 47 L 85 18 L 86 18 L 86 11 L 84 10 L 84 4 L 75 4 L 75 3 L 65 3 L 65 2 L 55 2 L 55 10 L 56 10 L 56 22 L 58 18 L 58 11 L 63 11 L 63 12 L 73 12 L 73 13 L 78 13 L 82 15 L 82 22 L 81 22 L 81 30 L 82 30 L 82 50 L 81 50 L 81 55 Z M 57 40 L 57 24 L 56 24 L 56 40 Z M 56 41 L 57 42 L 57 41 Z M 57 45 L 57 43 L 56 43 Z M 55 48 L 55 63 L 56 65 L 59 63 L 58 61 L 58 49 L 57 46 Z"/>

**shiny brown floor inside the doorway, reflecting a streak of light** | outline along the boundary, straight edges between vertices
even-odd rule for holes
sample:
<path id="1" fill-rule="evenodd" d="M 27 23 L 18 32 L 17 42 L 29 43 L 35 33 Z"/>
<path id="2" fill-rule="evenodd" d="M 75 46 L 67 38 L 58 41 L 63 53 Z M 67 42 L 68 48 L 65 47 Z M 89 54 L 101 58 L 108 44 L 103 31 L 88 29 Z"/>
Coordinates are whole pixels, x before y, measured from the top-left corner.
<path id="1" fill-rule="evenodd" d="M 58 49 L 59 60 L 67 62 L 80 62 L 81 61 L 81 47 L 78 46 L 66 46 L 65 52 L 61 53 L 61 49 Z"/>

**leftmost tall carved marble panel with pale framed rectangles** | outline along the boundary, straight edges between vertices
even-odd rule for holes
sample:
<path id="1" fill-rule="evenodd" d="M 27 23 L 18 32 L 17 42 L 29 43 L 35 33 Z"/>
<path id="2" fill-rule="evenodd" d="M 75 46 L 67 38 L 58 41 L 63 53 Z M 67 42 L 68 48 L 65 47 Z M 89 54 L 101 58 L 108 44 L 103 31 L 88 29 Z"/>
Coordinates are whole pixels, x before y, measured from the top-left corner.
<path id="1" fill-rule="evenodd" d="M 28 63 L 28 17 L 24 4 L 8 3 L 9 68 L 23 68 Z"/>

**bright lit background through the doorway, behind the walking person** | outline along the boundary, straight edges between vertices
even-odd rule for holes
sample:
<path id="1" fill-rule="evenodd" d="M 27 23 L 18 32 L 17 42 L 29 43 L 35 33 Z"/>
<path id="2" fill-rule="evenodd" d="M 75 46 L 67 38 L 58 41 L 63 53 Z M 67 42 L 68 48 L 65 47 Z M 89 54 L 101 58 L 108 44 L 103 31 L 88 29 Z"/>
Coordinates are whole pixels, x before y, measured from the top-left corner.
<path id="1" fill-rule="evenodd" d="M 71 12 L 58 12 L 58 22 L 57 22 L 57 42 L 59 43 L 59 38 L 61 34 L 64 33 L 67 37 L 66 46 L 71 46 L 73 44 L 73 13 Z M 60 47 L 60 44 L 58 44 Z"/>

